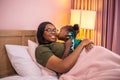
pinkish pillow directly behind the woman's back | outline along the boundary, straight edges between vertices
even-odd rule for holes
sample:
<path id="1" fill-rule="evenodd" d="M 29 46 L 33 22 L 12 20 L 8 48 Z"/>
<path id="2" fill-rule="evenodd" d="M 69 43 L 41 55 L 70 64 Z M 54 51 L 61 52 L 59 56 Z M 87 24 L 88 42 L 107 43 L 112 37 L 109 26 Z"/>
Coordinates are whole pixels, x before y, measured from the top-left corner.
<path id="1" fill-rule="evenodd" d="M 40 65 L 39 63 L 37 63 L 37 61 L 35 59 L 35 49 L 36 49 L 37 46 L 38 46 L 37 43 L 35 43 L 31 40 L 28 40 L 28 51 L 29 51 L 29 54 L 31 55 L 33 61 L 39 66 L 43 75 L 57 76 L 57 74 L 54 71 L 52 71 L 48 68 L 45 68 L 42 65 Z"/>

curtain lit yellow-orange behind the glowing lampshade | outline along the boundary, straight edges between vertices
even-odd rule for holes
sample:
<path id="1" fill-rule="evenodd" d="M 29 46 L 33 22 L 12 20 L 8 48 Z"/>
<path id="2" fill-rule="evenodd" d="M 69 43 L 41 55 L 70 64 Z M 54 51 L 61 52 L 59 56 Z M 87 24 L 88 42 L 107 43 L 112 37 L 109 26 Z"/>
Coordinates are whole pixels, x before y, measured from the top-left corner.
<path id="1" fill-rule="evenodd" d="M 91 39 L 95 45 L 101 45 L 102 0 L 72 0 L 71 9 L 95 10 L 96 24 L 94 30 L 80 29 L 78 38 Z"/>

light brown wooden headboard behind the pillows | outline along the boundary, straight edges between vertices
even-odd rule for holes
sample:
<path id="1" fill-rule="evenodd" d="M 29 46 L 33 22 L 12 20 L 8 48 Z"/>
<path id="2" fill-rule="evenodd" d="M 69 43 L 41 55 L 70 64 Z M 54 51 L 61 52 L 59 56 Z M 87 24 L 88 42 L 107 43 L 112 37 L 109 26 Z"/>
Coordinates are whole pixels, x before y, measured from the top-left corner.
<path id="1" fill-rule="evenodd" d="M 6 53 L 5 44 L 27 45 L 36 40 L 35 30 L 0 30 L 0 78 L 17 74 Z"/>

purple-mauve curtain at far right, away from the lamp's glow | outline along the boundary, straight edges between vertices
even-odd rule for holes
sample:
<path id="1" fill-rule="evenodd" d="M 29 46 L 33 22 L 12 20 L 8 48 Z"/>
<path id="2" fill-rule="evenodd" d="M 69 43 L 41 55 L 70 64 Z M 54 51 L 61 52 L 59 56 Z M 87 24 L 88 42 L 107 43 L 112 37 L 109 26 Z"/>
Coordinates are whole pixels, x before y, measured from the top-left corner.
<path id="1" fill-rule="evenodd" d="M 103 0 L 101 45 L 120 54 L 120 0 Z"/>

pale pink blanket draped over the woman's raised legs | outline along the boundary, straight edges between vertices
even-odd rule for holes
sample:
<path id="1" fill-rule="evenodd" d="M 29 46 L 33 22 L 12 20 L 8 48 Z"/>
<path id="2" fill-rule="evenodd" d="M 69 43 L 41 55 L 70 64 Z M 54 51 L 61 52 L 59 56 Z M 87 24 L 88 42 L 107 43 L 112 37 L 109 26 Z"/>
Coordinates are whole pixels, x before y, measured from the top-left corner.
<path id="1" fill-rule="evenodd" d="M 100 46 L 83 49 L 75 66 L 59 80 L 120 80 L 120 56 Z"/>

